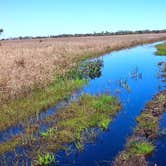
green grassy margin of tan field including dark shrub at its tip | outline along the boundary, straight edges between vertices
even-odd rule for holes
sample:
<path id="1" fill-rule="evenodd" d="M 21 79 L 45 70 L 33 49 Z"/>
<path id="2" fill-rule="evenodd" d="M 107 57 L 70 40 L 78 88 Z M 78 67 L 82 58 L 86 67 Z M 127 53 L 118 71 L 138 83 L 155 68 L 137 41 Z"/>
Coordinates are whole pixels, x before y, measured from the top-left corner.
<path id="1" fill-rule="evenodd" d="M 99 77 L 102 65 L 102 60 L 81 63 L 65 75 L 56 76 L 48 87 L 36 89 L 26 97 L 2 104 L 0 130 L 26 121 L 69 97 L 73 91 L 83 87 L 88 79 Z"/>

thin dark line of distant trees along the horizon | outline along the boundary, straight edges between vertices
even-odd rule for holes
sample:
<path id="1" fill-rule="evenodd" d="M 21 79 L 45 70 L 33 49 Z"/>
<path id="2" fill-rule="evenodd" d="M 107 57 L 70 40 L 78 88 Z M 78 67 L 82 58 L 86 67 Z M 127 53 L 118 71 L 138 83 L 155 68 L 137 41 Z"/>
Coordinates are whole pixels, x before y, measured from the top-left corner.
<path id="1" fill-rule="evenodd" d="M 3 32 L 3 29 L 0 29 L 0 33 Z M 110 36 L 110 35 L 129 35 L 129 34 L 150 34 L 150 33 L 166 33 L 166 29 L 164 30 L 138 30 L 138 31 L 117 31 L 117 32 L 109 32 L 109 31 L 102 31 L 102 32 L 94 32 L 94 33 L 86 33 L 86 34 L 60 34 L 60 35 L 51 35 L 51 36 L 20 36 L 17 38 L 10 38 L 13 40 L 16 39 L 43 39 L 43 38 L 62 38 L 62 37 L 87 37 L 87 36 Z M 2 39 L 8 40 L 8 39 Z M 42 40 L 41 40 L 42 41 Z"/>

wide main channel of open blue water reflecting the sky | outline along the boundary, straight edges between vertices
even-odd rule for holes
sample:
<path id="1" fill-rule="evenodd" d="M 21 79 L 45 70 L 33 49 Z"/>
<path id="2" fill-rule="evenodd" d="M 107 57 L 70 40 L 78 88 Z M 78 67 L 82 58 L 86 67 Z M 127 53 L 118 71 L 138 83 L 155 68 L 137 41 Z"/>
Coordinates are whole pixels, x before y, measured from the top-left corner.
<path id="1" fill-rule="evenodd" d="M 64 158 L 63 163 L 71 165 L 109 165 L 119 151 L 123 149 L 127 137 L 132 134 L 136 125 L 135 118 L 143 110 L 145 104 L 152 99 L 159 87 L 164 88 L 164 83 L 157 78 L 159 71 L 158 62 L 165 57 L 154 56 L 156 49 L 153 45 L 138 46 L 112 52 L 104 57 L 102 76 L 90 81 L 83 91 L 93 95 L 111 93 L 117 95 L 123 109 L 110 125 L 109 131 L 101 134 L 94 145 L 86 145 L 85 151 Z M 137 71 L 141 77 L 132 78 Z M 129 93 L 119 82 L 127 84 Z"/>

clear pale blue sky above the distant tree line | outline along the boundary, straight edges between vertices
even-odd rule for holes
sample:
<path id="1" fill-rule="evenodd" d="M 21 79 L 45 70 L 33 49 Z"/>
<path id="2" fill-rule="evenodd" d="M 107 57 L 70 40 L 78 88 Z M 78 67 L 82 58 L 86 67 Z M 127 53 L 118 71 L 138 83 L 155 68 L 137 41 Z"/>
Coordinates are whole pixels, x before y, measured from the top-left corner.
<path id="1" fill-rule="evenodd" d="M 1 38 L 166 29 L 166 0 L 0 0 Z"/>

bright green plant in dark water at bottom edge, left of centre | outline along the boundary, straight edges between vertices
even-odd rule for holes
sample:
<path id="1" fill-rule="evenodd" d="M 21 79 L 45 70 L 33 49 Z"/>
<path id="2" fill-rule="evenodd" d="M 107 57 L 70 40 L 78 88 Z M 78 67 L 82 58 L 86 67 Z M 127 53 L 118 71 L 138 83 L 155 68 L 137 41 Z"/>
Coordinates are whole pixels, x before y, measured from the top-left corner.
<path id="1" fill-rule="evenodd" d="M 52 164 L 55 164 L 55 157 L 50 153 L 39 154 L 37 164 L 39 166 L 50 166 Z"/>

